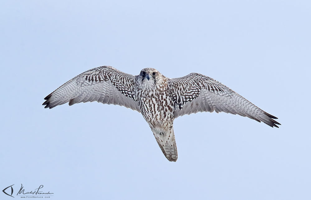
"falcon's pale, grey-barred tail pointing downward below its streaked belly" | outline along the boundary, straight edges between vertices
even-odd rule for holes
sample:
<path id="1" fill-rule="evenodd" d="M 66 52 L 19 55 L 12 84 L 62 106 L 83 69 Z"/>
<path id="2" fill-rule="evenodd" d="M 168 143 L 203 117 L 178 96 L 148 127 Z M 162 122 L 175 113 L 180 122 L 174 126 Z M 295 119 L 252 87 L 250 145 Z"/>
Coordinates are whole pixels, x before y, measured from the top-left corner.
<path id="1" fill-rule="evenodd" d="M 163 132 L 153 131 L 153 135 L 167 160 L 176 162 L 177 147 L 173 128 Z"/>

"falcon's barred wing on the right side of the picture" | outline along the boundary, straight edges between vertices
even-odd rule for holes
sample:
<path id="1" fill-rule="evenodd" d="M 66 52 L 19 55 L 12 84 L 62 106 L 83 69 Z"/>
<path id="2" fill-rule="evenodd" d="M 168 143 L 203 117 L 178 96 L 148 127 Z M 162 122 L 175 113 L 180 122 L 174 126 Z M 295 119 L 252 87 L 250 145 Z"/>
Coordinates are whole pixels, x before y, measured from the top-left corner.
<path id="1" fill-rule="evenodd" d="M 196 112 L 226 112 L 264 122 L 271 127 L 280 125 L 276 117 L 264 112 L 227 86 L 202 74 L 169 79 L 175 103 L 174 117 Z"/>

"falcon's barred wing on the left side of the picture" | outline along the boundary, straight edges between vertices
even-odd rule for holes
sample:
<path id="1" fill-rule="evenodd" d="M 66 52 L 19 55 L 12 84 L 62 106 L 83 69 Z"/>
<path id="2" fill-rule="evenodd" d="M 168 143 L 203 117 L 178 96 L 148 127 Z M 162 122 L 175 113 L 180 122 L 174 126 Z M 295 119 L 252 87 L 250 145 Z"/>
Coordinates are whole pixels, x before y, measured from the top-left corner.
<path id="1" fill-rule="evenodd" d="M 69 102 L 101 102 L 125 106 L 140 112 L 135 96 L 134 76 L 111 66 L 90 69 L 64 83 L 44 99 L 45 108 Z"/>

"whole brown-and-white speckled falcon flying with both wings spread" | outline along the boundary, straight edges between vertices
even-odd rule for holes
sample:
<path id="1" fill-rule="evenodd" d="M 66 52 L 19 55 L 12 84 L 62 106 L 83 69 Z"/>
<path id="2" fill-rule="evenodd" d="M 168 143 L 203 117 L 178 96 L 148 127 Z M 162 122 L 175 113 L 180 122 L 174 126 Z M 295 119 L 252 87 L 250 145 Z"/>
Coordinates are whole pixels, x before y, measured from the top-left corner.
<path id="1" fill-rule="evenodd" d="M 44 99 L 45 108 L 97 101 L 138 111 L 167 160 L 174 162 L 177 148 L 173 121 L 179 116 L 215 111 L 249 117 L 271 127 L 280 125 L 276 117 L 210 77 L 191 73 L 170 79 L 153 68 L 133 76 L 111 66 L 97 67 L 64 83 Z"/>

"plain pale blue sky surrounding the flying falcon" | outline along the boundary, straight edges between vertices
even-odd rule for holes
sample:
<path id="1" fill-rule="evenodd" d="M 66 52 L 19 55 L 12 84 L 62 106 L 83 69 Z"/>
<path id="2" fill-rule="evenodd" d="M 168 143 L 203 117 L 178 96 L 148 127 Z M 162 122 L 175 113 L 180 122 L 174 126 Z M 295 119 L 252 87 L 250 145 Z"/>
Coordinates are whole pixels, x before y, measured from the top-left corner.
<path id="1" fill-rule="evenodd" d="M 42 184 L 53 199 L 311 199 L 310 10 L 310 1 L 1 1 L 0 191 Z M 179 117 L 172 163 L 138 112 L 41 105 L 102 65 L 205 74 L 282 125 Z"/>

